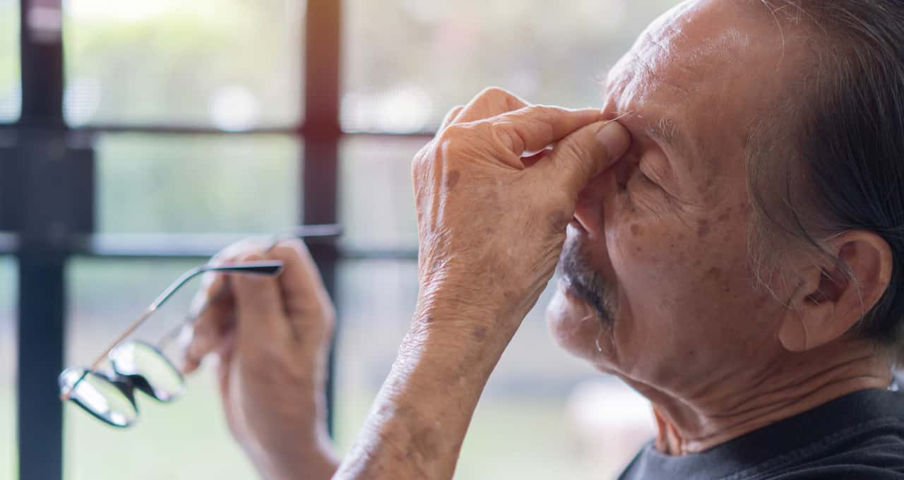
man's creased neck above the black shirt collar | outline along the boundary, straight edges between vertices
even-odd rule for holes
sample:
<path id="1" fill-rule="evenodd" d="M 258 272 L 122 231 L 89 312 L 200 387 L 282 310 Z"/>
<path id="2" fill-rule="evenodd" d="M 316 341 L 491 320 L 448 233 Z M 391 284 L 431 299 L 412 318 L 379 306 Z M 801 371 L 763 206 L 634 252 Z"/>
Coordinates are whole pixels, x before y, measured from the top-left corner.
<path id="1" fill-rule="evenodd" d="M 789 353 L 755 374 L 701 390 L 665 391 L 626 379 L 653 402 L 655 445 L 668 455 L 702 452 L 854 391 L 884 389 L 890 365 L 870 348 L 827 346 Z"/>

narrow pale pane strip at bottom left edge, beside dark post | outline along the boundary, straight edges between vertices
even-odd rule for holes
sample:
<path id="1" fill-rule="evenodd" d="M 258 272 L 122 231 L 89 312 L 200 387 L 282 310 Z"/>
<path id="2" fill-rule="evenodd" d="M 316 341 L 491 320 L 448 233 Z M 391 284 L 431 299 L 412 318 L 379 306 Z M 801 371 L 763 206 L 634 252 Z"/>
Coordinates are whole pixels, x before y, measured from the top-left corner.
<path id="1" fill-rule="evenodd" d="M 18 478 L 15 445 L 15 309 L 18 296 L 14 257 L 0 256 L 0 478 Z M 9 475 L 9 476 L 6 476 Z"/>

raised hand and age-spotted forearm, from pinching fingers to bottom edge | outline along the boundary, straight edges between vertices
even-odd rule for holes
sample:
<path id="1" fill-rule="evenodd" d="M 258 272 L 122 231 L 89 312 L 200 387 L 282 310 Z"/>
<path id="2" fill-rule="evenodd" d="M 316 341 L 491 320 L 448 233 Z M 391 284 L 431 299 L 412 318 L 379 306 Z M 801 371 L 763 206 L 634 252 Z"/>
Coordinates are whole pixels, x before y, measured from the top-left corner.
<path id="1" fill-rule="evenodd" d="M 416 155 L 417 311 L 336 478 L 452 477 L 486 381 L 552 276 L 579 193 L 630 144 L 624 127 L 600 119 L 487 89 Z"/>

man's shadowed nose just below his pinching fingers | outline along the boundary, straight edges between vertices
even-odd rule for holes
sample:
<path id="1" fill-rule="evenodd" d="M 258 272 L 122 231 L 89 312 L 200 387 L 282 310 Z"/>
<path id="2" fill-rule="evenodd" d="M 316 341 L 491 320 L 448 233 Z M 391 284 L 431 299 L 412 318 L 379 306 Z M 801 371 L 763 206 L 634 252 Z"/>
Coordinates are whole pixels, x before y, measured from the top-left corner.
<path id="1" fill-rule="evenodd" d="M 590 181 L 578 196 L 574 218 L 588 232 L 591 238 L 603 234 L 606 202 L 620 193 L 631 174 L 632 160 L 629 156 L 618 160 L 602 174 Z"/>

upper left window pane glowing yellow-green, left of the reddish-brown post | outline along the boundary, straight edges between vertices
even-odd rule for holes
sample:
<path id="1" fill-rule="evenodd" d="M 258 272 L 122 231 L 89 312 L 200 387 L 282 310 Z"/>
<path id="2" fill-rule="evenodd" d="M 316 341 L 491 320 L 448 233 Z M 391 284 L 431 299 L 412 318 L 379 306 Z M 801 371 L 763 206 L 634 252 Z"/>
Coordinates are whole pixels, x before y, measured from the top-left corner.
<path id="1" fill-rule="evenodd" d="M 70 125 L 297 123 L 301 0 L 67 0 Z"/>

